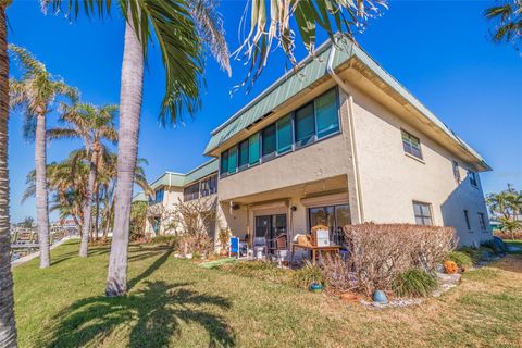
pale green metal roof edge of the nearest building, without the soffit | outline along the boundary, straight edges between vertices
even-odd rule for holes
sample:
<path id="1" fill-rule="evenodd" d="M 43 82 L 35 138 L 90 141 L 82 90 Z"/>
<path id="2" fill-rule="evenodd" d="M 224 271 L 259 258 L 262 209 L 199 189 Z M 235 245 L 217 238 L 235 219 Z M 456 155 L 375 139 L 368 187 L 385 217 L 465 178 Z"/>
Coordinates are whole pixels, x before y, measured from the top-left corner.
<path id="1" fill-rule="evenodd" d="M 490 170 L 489 165 L 487 165 L 485 160 L 475 150 L 473 150 L 459 136 L 457 136 L 455 132 L 452 132 L 446 124 L 444 124 L 430 110 L 427 110 L 426 107 L 424 107 L 415 97 L 413 97 L 412 94 L 410 94 L 402 85 L 400 85 L 363 49 L 347 38 L 343 38 L 337 45 L 338 48 L 332 64 L 334 70 L 340 66 L 343 63 L 346 63 L 350 58 L 357 57 L 364 65 L 378 75 L 380 78 L 395 89 L 421 114 L 427 117 L 431 122 L 449 135 L 455 141 L 460 144 L 460 146 L 463 147 L 468 152 L 474 156 L 486 170 Z M 286 73 L 261 95 L 235 113 L 225 123 L 214 129 L 211 133 L 212 137 L 204 149 L 204 153 L 209 154 L 220 145 L 231 139 L 256 121 L 265 116 L 287 99 L 296 96 L 298 92 L 311 86 L 320 78 L 327 76 L 328 73 L 326 71 L 326 65 L 332 47 L 331 40 L 327 40 L 321 45 L 314 58 L 308 57 L 301 63 L 299 63 L 299 66 L 301 67 L 297 71 L 297 73 L 294 71 Z"/>

